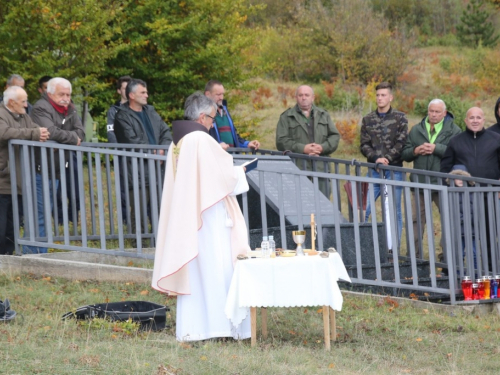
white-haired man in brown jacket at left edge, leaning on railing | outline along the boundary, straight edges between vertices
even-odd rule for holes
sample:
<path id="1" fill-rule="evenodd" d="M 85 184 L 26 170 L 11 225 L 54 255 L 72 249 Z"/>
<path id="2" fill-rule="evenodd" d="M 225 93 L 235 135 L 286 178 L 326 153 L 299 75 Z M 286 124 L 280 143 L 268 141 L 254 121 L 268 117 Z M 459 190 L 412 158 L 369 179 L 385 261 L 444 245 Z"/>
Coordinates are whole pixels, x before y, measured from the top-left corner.
<path id="1" fill-rule="evenodd" d="M 28 95 L 19 86 L 10 86 L 3 93 L 4 101 L 0 104 L 0 254 L 12 254 L 14 251 L 14 223 L 12 212 L 12 193 L 9 165 L 8 143 L 11 139 L 45 142 L 50 133 L 47 128 L 40 128 L 26 114 Z M 15 148 L 17 170 L 18 207 L 21 204 L 21 163 L 19 150 Z"/>

